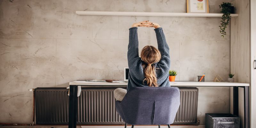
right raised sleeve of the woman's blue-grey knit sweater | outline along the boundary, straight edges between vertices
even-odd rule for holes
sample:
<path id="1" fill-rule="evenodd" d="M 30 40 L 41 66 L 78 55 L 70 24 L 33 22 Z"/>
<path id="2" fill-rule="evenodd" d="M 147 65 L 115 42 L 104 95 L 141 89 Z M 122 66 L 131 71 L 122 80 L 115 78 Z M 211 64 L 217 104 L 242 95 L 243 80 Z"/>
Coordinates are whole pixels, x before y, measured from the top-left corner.
<path id="1" fill-rule="evenodd" d="M 157 68 L 162 69 L 162 74 L 165 75 L 170 69 L 169 46 L 166 43 L 163 28 L 155 28 L 154 30 L 156 32 L 158 50 L 161 53 L 161 59 L 157 63 Z"/>

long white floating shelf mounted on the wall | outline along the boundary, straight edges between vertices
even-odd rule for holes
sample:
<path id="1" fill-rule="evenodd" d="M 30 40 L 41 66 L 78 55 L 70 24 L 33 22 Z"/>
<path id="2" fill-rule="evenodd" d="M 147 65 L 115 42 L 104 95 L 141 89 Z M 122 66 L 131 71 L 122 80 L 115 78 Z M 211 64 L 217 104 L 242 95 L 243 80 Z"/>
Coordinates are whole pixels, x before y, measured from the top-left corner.
<path id="1" fill-rule="evenodd" d="M 78 15 L 104 16 L 166 16 L 166 17 L 221 17 L 222 13 L 173 13 L 173 12 L 103 12 L 103 11 L 76 11 Z M 230 14 L 237 17 L 238 14 Z"/>

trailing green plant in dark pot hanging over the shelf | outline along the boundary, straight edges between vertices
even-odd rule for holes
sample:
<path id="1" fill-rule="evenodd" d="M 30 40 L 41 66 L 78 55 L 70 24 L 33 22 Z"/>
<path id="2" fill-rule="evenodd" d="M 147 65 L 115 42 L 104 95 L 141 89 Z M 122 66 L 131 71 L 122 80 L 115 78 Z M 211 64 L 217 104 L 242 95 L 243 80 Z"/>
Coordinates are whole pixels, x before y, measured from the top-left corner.
<path id="1" fill-rule="evenodd" d="M 231 3 L 223 2 L 219 5 L 221 8 L 221 13 L 223 13 L 221 20 L 220 20 L 220 34 L 222 37 L 226 35 L 226 28 L 228 26 L 229 20 L 230 20 L 230 13 L 234 13 L 234 6 L 232 6 Z"/>

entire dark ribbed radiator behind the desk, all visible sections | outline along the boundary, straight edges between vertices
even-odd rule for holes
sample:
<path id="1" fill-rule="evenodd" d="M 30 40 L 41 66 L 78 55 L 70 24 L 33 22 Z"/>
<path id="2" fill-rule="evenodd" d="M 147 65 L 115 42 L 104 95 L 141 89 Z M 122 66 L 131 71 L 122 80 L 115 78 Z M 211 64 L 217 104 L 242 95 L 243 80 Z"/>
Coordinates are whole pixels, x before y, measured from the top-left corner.
<path id="1" fill-rule="evenodd" d="M 124 124 L 115 109 L 114 88 L 82 88 L 77 124 Z M 68 124 L 68 90 L 36 88 L 36 124 Z M 180 108 L 173 124 L 196 123 L 197 88 L 180 88 Z"/>

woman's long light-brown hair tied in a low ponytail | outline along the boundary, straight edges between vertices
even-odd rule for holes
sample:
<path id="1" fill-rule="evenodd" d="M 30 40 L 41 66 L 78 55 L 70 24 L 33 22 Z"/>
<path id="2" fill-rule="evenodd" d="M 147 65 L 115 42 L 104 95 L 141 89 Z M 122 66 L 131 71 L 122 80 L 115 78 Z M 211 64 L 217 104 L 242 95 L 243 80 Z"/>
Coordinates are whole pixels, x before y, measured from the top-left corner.
<path id="1" fill-rule="evenodd" d="M 149 87 L 158 87 L 155 66 L 151 64 L 156 63 L 161 59 L 161 53 L 156 47 L 147 45 L 141 50 L 140 57 L 147 63 L 147 65 L 143 65 L 143 71 L 146 77 L 143 80 L 143 83 L 146 80 Z"/>

